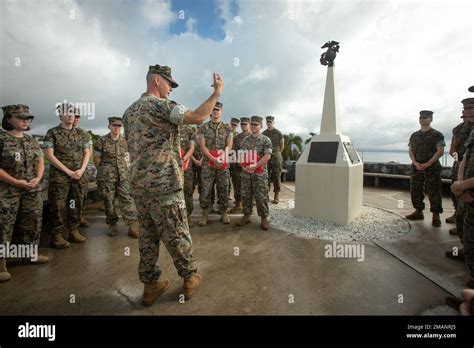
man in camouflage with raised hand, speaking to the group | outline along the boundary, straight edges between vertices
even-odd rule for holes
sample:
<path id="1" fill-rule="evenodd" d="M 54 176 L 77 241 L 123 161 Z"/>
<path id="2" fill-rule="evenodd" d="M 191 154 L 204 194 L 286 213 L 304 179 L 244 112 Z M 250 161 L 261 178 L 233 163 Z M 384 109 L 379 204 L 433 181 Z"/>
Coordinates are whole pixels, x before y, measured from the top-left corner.
<path id="1" fill-rule="evenodd" d="M 173 258 L 184 278 L 184 297 L 189 299 L 201 283 L 193 257 L 193 244 L 186 218 L 183 172 L 180 166 L 179 127 L 201 123 L 220 95 L 223 82 L 214 74 L 213 95 L 196 111 L 166 99 L 178 84 L 171 68 L 153 65 L 147 74 L 147 92 L 125 111 L 123 123 L 130 153 L 130 182 L 141 225 L 138 274 L 145 283 L 143 304 L 153 304 L 170 285 L 159 280 L 160 243 Z"/>

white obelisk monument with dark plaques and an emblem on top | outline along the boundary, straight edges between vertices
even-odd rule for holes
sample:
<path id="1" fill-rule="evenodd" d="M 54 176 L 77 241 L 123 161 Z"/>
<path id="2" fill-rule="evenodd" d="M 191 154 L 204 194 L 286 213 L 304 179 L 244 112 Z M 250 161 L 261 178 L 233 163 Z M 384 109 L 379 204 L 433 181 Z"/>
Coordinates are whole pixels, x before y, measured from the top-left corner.
<path id="1" fill-rule="evenodd" d="M 334 59 L 339 45 L 326 43 L 328 65 L 321 134 L 312 137 L 296 162 L 295 215 L 347 225 L 362 211 L 364 166 L 339 126 Z"/>

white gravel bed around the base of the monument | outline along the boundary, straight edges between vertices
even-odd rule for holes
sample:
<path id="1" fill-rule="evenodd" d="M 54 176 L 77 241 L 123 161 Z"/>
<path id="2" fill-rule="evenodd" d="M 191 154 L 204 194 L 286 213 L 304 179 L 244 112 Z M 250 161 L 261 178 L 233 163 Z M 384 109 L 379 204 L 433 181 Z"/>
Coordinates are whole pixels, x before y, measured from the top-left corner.
<path id="1" fill-rule="evenodd" d="M 304 238 L 337 242 L 371 242 L 393 239 L 406 235 L 410 225 L 404 218 L 388 211 L 363 206 L 361 215 L 349 225 L 338 225 L 313 218 L 294 215 L 294 200 L 270 203 L 270 224 L 278 229 Z"/>

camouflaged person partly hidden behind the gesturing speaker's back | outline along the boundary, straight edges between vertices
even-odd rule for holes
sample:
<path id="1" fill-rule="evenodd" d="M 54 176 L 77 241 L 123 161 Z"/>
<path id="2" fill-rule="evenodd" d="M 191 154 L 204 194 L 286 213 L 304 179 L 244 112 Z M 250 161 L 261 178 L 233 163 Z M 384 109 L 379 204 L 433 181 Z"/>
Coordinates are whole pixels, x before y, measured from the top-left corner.
<path id="1" fill-rule="evenodd" d="M 193 155 L 194 149 L 196 148 L 196 135 L 194 129 L 190 125 L 183 125 L 180 127 L 180 143 L 181 150 L 184 151 L 184 156 L 190 158 Z M 188 224 L 190 227 L 194 226 L 191 220 L 191 214 L 193 213 L 193 192 L 194 192 L 194 173 L 193 166 L 189 163 L 184 174 L 184 200 L 186 201 L 186 212 L 188 217 Z"/>

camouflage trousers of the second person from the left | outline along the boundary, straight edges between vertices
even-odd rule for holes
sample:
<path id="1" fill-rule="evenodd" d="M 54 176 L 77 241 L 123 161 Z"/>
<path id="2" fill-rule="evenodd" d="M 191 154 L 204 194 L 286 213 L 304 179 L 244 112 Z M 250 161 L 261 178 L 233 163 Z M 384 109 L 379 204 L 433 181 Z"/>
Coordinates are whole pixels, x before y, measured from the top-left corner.
<path id="1" fill-rule="evenodd" d="M 83 179 L 49 183 L 51 234 L 62 233 L 66 225 L 69 229 L 79 228 L 85 185 Z"/>

